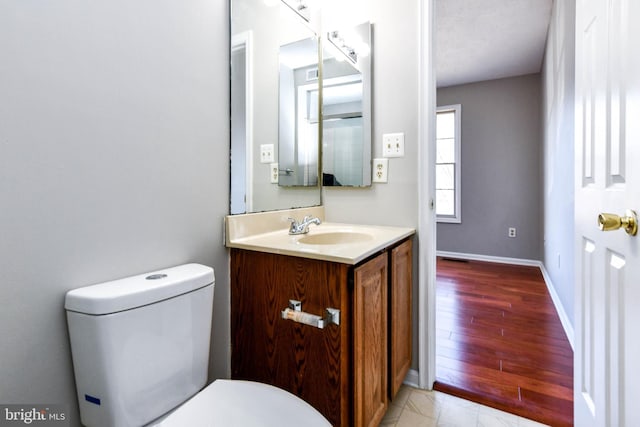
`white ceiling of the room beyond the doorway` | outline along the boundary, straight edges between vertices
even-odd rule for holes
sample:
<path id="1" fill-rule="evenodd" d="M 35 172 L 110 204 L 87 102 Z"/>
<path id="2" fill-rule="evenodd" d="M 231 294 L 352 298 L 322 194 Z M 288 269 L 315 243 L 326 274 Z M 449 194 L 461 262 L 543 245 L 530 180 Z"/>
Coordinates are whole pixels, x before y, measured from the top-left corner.
<path id="1" fill-rule="evenodd" d="M 553 0 L 436 0 L 438 87 L 540 72 Z"/>

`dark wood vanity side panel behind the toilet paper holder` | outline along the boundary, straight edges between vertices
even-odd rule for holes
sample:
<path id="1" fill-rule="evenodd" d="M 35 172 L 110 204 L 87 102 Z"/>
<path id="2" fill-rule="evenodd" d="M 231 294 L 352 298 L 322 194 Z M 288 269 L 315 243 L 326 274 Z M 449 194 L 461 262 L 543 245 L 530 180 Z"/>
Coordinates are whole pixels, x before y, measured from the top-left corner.
<path id="1" fill-rule="evenodd" d="M 350 426 L 350 266 L 231 250 L 231 376 L 259 381 L 301 397 L 333 426 Z M 282 318 L 289 300 L 302 311 L 341 311 L 324 329 Z M 291 424 L 303 420 L 291 420 Z M 357 425 L 357 424 L 356 424 Z"/>

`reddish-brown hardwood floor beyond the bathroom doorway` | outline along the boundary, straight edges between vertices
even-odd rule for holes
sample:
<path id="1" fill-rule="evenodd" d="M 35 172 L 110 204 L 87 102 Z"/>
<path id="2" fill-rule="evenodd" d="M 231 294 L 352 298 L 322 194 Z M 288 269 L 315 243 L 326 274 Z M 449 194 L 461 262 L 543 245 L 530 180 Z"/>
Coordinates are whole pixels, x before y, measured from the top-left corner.
<path id="1" fill-rule="evenodd" d="M 438 258 L 435 389 L 573 425 L 573 351 L 540 269 Z"/>

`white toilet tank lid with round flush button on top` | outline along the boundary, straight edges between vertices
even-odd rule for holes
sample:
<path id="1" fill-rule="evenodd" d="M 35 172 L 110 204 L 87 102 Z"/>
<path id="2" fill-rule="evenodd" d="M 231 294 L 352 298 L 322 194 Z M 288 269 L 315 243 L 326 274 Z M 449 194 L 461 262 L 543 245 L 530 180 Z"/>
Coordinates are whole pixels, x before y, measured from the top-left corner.
<path id="1" fill-rule="evenodd" d="M 213 269 L 185 264 L 67 292 L 64 308 L 85 314 L 109 314 L 186 294 L 215 282 Z"/>

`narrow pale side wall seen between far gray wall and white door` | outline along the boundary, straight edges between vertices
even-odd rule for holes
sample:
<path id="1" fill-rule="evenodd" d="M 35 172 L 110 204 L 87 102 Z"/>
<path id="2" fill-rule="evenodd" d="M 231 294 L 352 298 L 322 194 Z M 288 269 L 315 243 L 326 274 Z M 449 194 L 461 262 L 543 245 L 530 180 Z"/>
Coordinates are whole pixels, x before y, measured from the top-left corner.
<path id="1" fill-rule="evenodd" d="M 554 2 L 544 59 L 543 262 L 573 322 L 575 1 Z"/>

